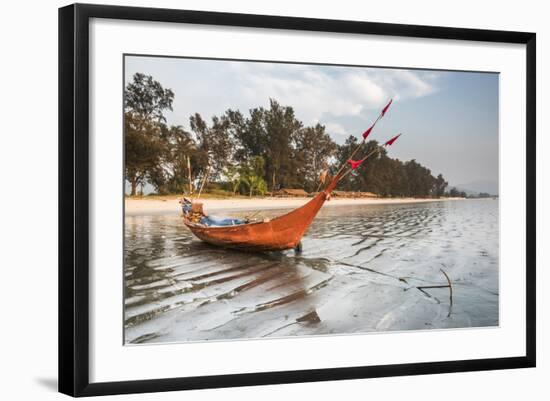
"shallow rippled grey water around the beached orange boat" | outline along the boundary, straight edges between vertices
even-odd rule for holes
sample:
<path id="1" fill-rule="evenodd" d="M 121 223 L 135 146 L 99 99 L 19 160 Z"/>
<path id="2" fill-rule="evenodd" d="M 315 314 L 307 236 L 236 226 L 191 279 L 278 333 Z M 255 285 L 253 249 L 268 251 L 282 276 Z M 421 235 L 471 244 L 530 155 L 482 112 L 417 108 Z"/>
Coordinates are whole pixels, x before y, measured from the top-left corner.
<path id="1" fill-rule="evenodd" d="M 177 215 L 126 217 L 125 341 L 496 326 L 498 233 L 496 200 L 325 207 L 300 255 L 216 248 Z M 449 288 L 418 288 L 446 285 L 441 269 L 452 306 Z"/>

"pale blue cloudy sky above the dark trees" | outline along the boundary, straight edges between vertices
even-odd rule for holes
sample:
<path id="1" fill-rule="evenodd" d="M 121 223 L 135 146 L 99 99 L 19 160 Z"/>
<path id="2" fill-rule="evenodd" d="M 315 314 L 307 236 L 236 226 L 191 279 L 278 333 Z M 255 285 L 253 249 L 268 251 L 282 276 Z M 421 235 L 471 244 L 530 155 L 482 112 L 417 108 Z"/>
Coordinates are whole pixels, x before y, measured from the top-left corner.
<path id="1" fill-rule="evenodd" d="M 187 129 L 195 112 L 247 116 L 274 98 L 341 144 L 360 138 L 393 98 L 369 137 L 402 133 L 390 157 L 416 159 L 450 185 L 498 192 L 498 73 L 126 56 L 126 83 L 136 72 L 172 89 L 167 122 Z"/>

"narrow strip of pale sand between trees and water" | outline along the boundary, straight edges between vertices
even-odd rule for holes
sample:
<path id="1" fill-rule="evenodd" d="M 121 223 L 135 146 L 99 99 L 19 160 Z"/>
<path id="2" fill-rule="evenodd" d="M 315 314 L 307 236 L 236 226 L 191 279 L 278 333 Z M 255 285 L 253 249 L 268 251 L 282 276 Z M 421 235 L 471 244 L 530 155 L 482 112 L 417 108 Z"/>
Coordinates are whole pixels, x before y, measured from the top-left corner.
<path id="1" fill-rule="evenodd" d="M 269 210 L 293 209 L 306 203 L 311 198 L 234 198 L 234 199 L 202 199 L 207 212 L 220 210 Z M 462 198 L 419 199 L 419 198 L 379 198 L 379 199 L 335 199 L 325 203 L 325 207 L 352 206 L 352 205 L 384 205 L 420 202 L 441 202 Z M 129 199 L 125 200 L 126 216 L 179 214 L 178 199 Z"/>

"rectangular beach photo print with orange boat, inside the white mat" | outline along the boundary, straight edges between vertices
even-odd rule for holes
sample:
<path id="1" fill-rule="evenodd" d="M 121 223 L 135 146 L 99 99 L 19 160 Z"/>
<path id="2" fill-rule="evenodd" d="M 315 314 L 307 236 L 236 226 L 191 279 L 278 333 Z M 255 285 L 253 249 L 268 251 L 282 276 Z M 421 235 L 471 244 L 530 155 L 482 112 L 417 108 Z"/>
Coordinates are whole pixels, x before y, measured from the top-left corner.
<path id="1" fill-rule="evenodd" d="M 124 56 L 124 342 L 499 325 L 499 74 Z"/>

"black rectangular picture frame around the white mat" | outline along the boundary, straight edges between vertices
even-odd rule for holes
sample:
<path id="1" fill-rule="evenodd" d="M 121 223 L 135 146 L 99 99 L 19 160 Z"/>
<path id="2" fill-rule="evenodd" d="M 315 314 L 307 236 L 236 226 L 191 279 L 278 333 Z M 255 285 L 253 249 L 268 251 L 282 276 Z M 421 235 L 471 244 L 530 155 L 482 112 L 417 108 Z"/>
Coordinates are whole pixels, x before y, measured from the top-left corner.
<path id="1" fill-rule="evenodd" d="M 88 61 L 91 18 L 526 45 L 526 353 L 520 357 L 90 383 Z M 59 9 L 59 391 L 141 393 L 534 367 L 536 35 L 479 29 L 74 4 Z"/>

